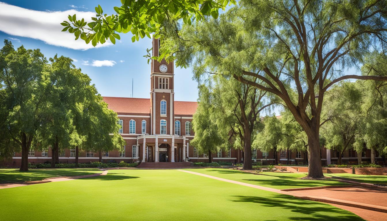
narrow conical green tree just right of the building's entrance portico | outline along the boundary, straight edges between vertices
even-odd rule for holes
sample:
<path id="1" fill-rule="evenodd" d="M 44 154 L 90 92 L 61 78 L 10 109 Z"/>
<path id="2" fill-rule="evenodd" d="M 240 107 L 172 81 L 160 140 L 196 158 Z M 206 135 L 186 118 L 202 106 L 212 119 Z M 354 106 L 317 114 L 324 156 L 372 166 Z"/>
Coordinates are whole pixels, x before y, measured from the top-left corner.
<path id="1" fill-rule="evenodd" d="M 219 130 L 213 115 L 211 106 L 211 93 L 205 86 L 199 87 L 199 100 L 197 110 L 192 118 L 192 128 L 195 131 L 195 137 L 190 144 L 199 149 L 199 152 L 207 154 L 208 162 L 212 162 L 212 153 L 219 147 L 228 142 L 224 139 Z"/>

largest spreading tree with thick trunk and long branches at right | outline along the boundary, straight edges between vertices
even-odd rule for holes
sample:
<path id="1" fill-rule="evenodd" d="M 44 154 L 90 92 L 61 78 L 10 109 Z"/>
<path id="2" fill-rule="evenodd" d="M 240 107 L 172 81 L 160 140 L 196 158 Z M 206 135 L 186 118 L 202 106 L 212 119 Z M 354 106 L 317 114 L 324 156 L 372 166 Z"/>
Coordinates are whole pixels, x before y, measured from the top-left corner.
<path id="1" fill-rule="evenodd" d="M 323 177 L 319 136 L 325 92 L 346 79 L 387 80 L 341 71 L 365 63 L 368 51 L 385 48 L 385 0 L 238 3 L 218 19 L 170 24 L 164 53 L 171 56 L 166 58 L 183 67 L 205 58 L 217 73 L 238 72 L 238 81 L 276 94 L 308 137 L 307 178 Z"/>

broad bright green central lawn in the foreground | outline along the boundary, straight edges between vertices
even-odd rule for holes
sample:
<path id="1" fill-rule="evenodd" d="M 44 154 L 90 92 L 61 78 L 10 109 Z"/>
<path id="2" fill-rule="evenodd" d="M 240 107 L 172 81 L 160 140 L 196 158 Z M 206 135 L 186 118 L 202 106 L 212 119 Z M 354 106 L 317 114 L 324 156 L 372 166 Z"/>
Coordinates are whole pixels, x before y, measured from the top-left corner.
<path id="1" fill-rule="evenodd" d="M 328 204 L 177 170 L 110 170 L 0 189 L 0 197 L 2 220 L 362 220 Z"/>

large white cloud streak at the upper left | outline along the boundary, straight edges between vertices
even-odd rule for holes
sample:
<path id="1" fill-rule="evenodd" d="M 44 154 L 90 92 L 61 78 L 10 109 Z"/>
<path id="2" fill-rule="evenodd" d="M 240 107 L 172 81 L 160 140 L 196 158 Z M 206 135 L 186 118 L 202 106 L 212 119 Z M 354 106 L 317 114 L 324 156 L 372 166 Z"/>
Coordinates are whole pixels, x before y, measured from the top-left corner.
<path id="1" fill-rule="evenodd" d="M 13 36 L 34 38 L 49 45 L 61 46 L 75 50 L 94 48 L 81 39 L 74 40 L 74 34 L 62 32 L 64 26 L 60 23 L 67 20 L 68 15 L 77 14 L 77 18 L 84 18 L 87 22 L 95 16 L 95 12 L 80 12 L 75 9 L 56 12 L 36 11 L 24 9 L 0 2 L 0 31 Z M 112 45 L 106 42 L 98 44 L 96 48 Z"/>

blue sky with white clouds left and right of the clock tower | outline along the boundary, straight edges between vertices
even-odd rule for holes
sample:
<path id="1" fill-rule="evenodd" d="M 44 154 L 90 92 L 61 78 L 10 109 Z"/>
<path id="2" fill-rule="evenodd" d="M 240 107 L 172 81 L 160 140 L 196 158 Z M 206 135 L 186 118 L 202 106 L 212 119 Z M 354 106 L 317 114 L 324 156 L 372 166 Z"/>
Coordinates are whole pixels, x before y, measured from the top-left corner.
<path id="1" fill-rule="evenodd" d="M 151 48 L 151 39 L 132 43 L 130 35 L 121 34 L 121 41 L 115 45 L 92 48 L 91 43 L 74 41 L 74 36 L 61 32 L 60 22 L 67 20 L 68 14 L 89 18 L 98 3 L 107 14 L 113 14 L 113 7 L 121 5 L 119 0 L 1 1 L 0 46 L 3 39 L 8 39 L 15 47 L 40 48 L 47 58 L 55 54 L 73 58 L 103 96 L 130 97 L 133 79 L 134 97 L 149 98 L 151 67 L 142 56 Z M 175 100 L 196 101 L 197 97 L 197 82 L 192 80 L 191 69 L 175 68 Z"/>

